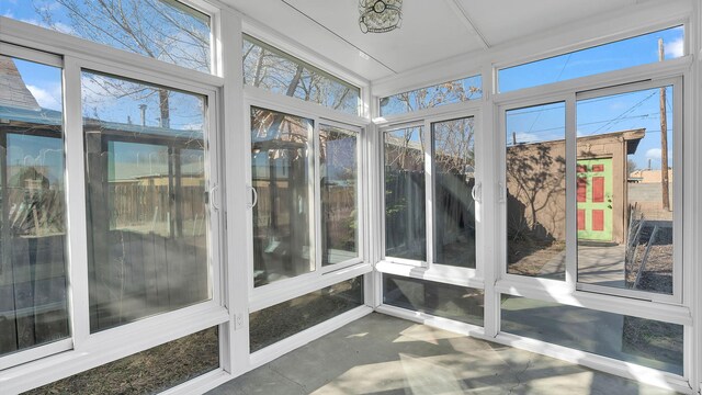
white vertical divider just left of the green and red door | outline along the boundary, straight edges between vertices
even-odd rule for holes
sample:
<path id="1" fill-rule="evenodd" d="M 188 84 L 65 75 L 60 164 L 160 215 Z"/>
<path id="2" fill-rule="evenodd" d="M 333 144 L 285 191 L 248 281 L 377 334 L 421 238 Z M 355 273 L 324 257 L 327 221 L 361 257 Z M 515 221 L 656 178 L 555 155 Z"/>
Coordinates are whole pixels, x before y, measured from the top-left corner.
<path id="1" fill-rule="evenodd" d="M 575 291 L 578 281 L 578 232 L 576 203 L 577 126 L 576 94 L 565 98 L 566 104 L 566 284 Z"/>

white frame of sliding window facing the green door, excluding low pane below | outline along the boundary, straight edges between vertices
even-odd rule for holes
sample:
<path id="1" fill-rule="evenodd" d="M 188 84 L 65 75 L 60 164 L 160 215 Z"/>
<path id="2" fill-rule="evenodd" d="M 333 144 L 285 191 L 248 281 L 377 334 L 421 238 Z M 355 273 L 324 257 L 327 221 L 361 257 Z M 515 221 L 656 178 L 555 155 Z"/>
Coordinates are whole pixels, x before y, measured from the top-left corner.
<path id="1" fill-rule="evenodd" d="M 496 168 L 500 169 L 500 174 L 498 178 L 498 182 L 499 182 L 499 194 L 500 196 L 500 207 L 499 207 L 499 224 L 500 224 L 500 232 L 499 232 L 499 236 L 498 236 L 498 248 L 497 250 L 500 251 L 499 252 L 499 261 L 500 261 L 500 268 L 497 272 L 498 274 L 498 281 L 496 283 L 498 290 L 500 290 L 501 292 L 506 292 L 509 293 L 510 290 L 512 292 L 519 292 L 516 290 L 526 290 L 529 289 L 530 291 L 536 291 L 540 290 L 539 292 L 542 293 L 543 297 L 547 297 L 548 300 L 552 298 L 553 295 L 563 295 L 564 298 L 562 298 L 561 303 L 565 303 L 565 304 L 573 304 L 573 301 L 567 302 L 568 297 L 567 295 L 574 295 L 574 296 L 578 296 L 579 300 L 584 300 L 584 301 L 588 301 L 588 300 L 592 300 L 593 303 L 598 304 L 598 302 L 595 301 L 610 301 L 609 304 L 603 303 L 602 306 L 604 307 L 605 311 L 615 313 L 615 309 L 619 309 L 616 307 L 616 304 L 623 304 L 623 305 L 629 305 L 630 303 L 636 302 L 637 300 L 641 300 L 642 296 L 645 296 L 646 300 L 652 301 L 653 303 L 660 303 L 660 304 L 665 304 L 665 306 L 669 307 L 669 312 L 668 313 L 672 313 L 672 314 L 665 314 L 665 315 L 659 315 L 659 313 L 653 313 L 656 309 L 655 308 L 649 308 L 648 312 L 639 312 L 638 314 L 642 315 L 648 315 L 648 314 L 653 314 L 653 316 L 643 316 L 644 318 L 652 318 L 652 319 L 659 319 L 659 320 L 668 320 L 668 319 L 673 319 L 675 323 L 677 324 L 684 324 L 689 321 L 689 317 L 690 317 L 690 311 L 688 308 L 688 306 L 686 306 L 684 301 L 689 301 L 689 296 L 686 297 L 686 292 L 688 292 L 689 290 L 687 290 L 687 287 L 691 286 L 688 284 L 683 283 L 683 279 L 690 276 L 690 269 L 686 268 L 686 266 L 681 267 L 681 260 L 684 253 L 683 248 L 686 248 L 686 241 L 690 236 L 686 236 L 684 232 L 680 232 L 683 229 L 684 224 L 682 223 L 682 212 L 683 210 L 686 210 L 686 207 L 689 206 L 689 204 L 686 204 L 683 206 L 683 192 L 681 190 L 681 185 L 680 183 L 684 183 L 686 181 L 675 181 L 673 178 L 673 182 L 677 182 L 673 184 L 673 187 L 676 188 L 673 195 L 675 195 L 675 202 L 673 202 L 673 206 L 675 207 L 680 207 L 677 208 L 675 215 L 676 215 L 676 229 L 680 229 L 676 233 L 676 242 L 681 242 L 682 246 L 680 246 L 679 244 L 676 245 L 676 251 L 673 253 L 676 253 L 676 259 L 678 259 L 678 261 L 675 262 L 675 269 L 677 270 L 676 274 L 678 278 L 675 280 L 675 285 L 678 286 L 678 289 L 676 290 L 677 293 L 672 296 L 670 295 L 657 295 L 657 294 L 653 294 L 653 293 L 648 293 L 645 292 L 644 295 L 642 295 L 641 292 L 636 292 L 636 291 L 627 291 L 627 290 L 622 290 L 625 292 L 621 292 L 621 291 L 614 291 L 612 289 L 609 287 L 601 287 L 601 286 L 596 286 L 592 287 L 592 285 L 588 285 L 588 284 L 578 284 L 577 283 L 577 267 L 576 267 L 576 258 L 577 258 L 577 232 L 575 228 L 575 190 L 570 189 L 570 190 L 566 190 L 566 279 L 565 281 L 559 281 L 559 280 L 551 280 L 551 279 L 541 279 L 541 278 L 529 278 L 529 276 L 524 276 L 524 275 L 519 275 L 519 274 L 509 274 L 507 273 L 507 257 L 506 257 L 506 251 L 507 251 L 507 229 L 505 227 L 506 221 L 507 221 L 507 206 L 506 203 L 503 201 L 503 196 L 506 194 L 505 191 L 505 185 L 506 185 L 506 124 L 505 124 L 505 114 L 507 111 L 512 110 L 512 109 L 520 109 L 520 108 L 526 108 L 526 106 L 532 106 L 532 105 L 539 105 L 539 104 L 547 104 L 547 103 L 554 103 L 554 102 L 564 102 L 565 106 L 566 106 L 566 111 L 565 111 L 565 117 L 566 117 L 566 183 L 567 185 L 570 184 L 575 184 L 575 167 L 571 166 L 573 163 L 575 163 L 575 155 L 576 155 L 576 139 L 575 139 L 575 125 L 576 125 L 576 114 L 575 114 L 575 109 L 576 109 L 576 95 L 577 98 L 588 98 L 588 95 L 608 95 L 608 94 L 612 94 L 611 92 L 621 92 L 621 91 L 634 91 L 637 89 L 646 89 L 646 88 L 652 88 L 652 87 L 660 87 L 660 86 L 669 86 L 671 83 L 675 83 L 675 90 L 673 90 L 673 94 L 675 94 L 675 100 L 679 101 L 676 102 L 676 108 L 673 109 L 675 111 L 675 115 L 673 115 L 673 127 L 676 127 L 676 131 L 681 131 L 681 132 L 677 132 L 676 134 L 676 139 L 673 140 L 673 144 L 676 145 L 675 149 L 677 149 L 676 154 L 673 154 L 673 160 L 676 160 L 676 163 L 673 163 L 673 168 L 678 167 L 678 168 L 683 168 L 683 174 L 676 174 L 676 177 L 678 178 L 678 180 L 687 180 L 687 173 L 689 171 L 686 171 L 686 168 L 692 168 L 692 166 L 689 162 L 683 162 L 683 158 L 682 157 L 690 157 L 690 153 L 688 153 L 689 148 L 687 146 L 682 145 L 682 139 L 687 139 L 689 136 L 689 131 L 687 128 L 688 126 L 688 122 L 687 120 L 683 119 L 682 114 L 683 114 L 683 109 L 689 106 L 690 104 L 687 103 L 687 101 L 683 101 L 683 86 L 682 86 L 682 78 L 686 78 L 687 76 L 687 70 L 688 70 L 688 65 L 690 63 L 690 58 L 689 57 L 684 57 L 681 59 L 676 59 L 676 60 L 669 60 L 670 64 L 663 63 L 663 64 L 654 64 L 654 65 L 646 65 L 646 66 L 641 66 L 641 67 L 636 67 L 636 68 L 632 68 L 632 69 L 626 69 L 626 70 L 618 70 L 618 71 L 612 71 L 612 72 L 608 72 L 608 74 L 603 74 L 603 75 L 599 75 L 599 76 L 593 76 L 593 77 L 586 77 L 586 78 L 581 78 L 581 79 L 576 79 L 576 80 L 571 80 L 571 81 L 565 81 L 562 83 L 556 83 L 556 84 L 551 84 L 547 87 L 540 87 L 539 89 L 542 91 L 541 94 L 535 94 L 534 92 L 531 91 L 531 89 L 529 90 L 524 90 L 524 92 L 517 92 L 519 93 L 519 95 L 513 94 L 514 92 L 509 92 L 506 93 L 505 95 L 496 95 L 495 97 L 495 102 L 498 105 L 498 122 L 499 122 L 499 128 L 497 131 L 498 136 L 496 136 L 496 142 L 498 142 L 498 153 L 496 153 L 496 160 L 499 160 L 499 162 L 496 162 L 495 166 Z M 644 81 L 644 82 L 639 82 L 639 81 Z M 621 86 L 621 87 L 620 87 Z M 612 88 L 615 87 L 615 88 Z M 528 91 L 528 92 L 526 92 Z M 548 92 L 553 92 L 553 93 L 548 93 Z M 507 99 L 505 101 L 501 100 L 501 97 L 506 97 Z M 684 149 L 684 151 L 683 151 Z M 678 162 L 679 160 L 679 162 Z M 687 166 L 686 166 L 687 165 Z M 676 195 L 677 194 L 677 195 Z M 680 201 L 678 201 L 680 200 Z M 682 235 L 679 235 L 682 234 Z M 690 266 L 690 264 L 688 264 Z M 585 285 L 585 286 L 584 286 Z M 673 291 L 675 292 L 675 291 Z M 605 294 L 602 294 L 605 293 Z M 552 295 L 552 296 L 548 296 Z M 615 296 L 623 296 L 623 297 L 616 297 L 613 301 L 616 301 L 615 303 L 612 303 L 611 297 L 615 297 Z M 671 305 L 672 303 L 672 305 Z M 635 308 L 634 305 L 637 304 L 631 304 L 632 308 Z M 676 305 L 678 305 L 679 307 L 676 307 Z M 654 318 L 654 316 L 658 316 L 659 318 Z M 667 317 L 667 318 L 666 318 Z M 673 318 L 676 317 L 676 318 Z"/>

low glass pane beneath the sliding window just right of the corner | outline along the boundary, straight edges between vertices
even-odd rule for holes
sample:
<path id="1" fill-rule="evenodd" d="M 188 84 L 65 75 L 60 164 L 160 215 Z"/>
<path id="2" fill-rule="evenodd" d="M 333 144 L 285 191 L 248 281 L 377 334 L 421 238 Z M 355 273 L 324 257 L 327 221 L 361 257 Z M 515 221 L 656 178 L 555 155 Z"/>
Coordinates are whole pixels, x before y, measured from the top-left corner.
<path id="1" fill-rule="evenodd" d="M 383 303 L 483 326 L 484 292 L 471 287 L 383 274 Z"/>

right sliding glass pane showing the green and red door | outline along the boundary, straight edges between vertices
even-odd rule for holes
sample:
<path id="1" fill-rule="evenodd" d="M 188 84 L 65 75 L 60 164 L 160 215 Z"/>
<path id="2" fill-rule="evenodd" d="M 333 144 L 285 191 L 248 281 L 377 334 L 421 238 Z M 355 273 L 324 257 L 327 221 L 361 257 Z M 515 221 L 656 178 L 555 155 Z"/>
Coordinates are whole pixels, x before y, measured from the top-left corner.
<path id="1" fill-rule="evenodd" d="M 578 281 L 672 294 L 673 90 L 580 100 Z"/>

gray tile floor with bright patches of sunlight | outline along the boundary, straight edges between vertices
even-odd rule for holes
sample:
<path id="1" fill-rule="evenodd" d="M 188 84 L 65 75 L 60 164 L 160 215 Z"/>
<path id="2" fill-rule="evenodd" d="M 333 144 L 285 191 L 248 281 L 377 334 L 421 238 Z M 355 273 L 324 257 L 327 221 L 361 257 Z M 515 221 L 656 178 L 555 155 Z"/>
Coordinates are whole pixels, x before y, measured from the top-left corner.
<path id="1" fill-rule="evenodd" d="M 675 392 L 373 313 L 208 394 L 669 395 Z"/>

